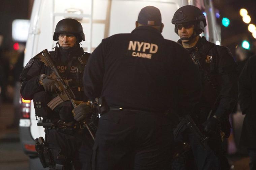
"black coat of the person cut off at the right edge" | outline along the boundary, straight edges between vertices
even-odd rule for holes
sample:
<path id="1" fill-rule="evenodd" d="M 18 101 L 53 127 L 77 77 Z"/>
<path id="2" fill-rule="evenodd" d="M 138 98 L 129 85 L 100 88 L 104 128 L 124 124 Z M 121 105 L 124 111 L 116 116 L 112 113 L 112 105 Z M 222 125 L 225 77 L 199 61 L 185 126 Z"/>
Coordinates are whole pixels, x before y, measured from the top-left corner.
<path id="1" fill-rule="evenodd" d="M 245 114 L 240 145 L 256 148 L 256 55 L 251 56 L 242 70 L 239 85 L 239 103 Z"/>

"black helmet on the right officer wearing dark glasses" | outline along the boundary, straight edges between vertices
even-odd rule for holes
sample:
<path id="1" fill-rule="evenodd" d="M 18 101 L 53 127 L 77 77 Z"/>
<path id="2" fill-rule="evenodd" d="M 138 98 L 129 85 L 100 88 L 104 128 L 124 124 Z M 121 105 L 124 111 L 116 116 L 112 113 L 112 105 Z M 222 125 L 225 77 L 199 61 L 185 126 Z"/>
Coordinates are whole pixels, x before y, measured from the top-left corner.
<path id="1" fill-rule="evenodd" d="M 172 24 L 180 24 L 180 23 L 187 23 L 187 22 L 194 22 L 195 23 L 195 32 L 196 35 L 199 35 L 204 27 L 206 27 L 206 20 L 205 16 L 202 11 L 193 5 L 185 5 L 179 8 L 173 15 L 171 19 Z M 175 26 L 174 28 L 175 33 L 178 34 L 178 29 Z"/>

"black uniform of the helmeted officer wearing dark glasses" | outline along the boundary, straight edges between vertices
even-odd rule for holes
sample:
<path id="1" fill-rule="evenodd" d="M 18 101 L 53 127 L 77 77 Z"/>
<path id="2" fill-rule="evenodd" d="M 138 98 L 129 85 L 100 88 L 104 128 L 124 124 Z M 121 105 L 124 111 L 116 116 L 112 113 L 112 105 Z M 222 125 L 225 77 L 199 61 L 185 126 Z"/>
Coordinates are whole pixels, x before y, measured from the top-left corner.
<path id="1" fill-rule="evenodd" d="M 182 44 L 181 40 L 178 41 Z M 211 110 L 212 117 L 221 118 L 221 127 L 210 135 L 208 145 L 210 148 L 202 150 L 195 136 L 187 131 L 189 142 L 199 170 L 229 169 L 228 162 L 221 148 L 220 131 L 225 137 L 230 134 L 229 114 L 232 112 L 237 100 L 237 67 L 229 49 L 206 41 L 199 37 L 193 48 L 187 48 L 201 72 L 202 97 L 192 115 L 199 128 L 207 120 Z M 191 167 L 190 167 L 191 168 Z"/>

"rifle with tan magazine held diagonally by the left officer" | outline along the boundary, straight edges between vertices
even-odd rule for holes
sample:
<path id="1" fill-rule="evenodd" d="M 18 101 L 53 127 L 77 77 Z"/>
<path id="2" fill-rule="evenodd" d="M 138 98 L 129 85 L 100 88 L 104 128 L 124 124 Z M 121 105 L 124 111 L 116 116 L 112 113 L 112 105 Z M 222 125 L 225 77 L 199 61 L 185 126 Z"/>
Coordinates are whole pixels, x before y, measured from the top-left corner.
<path id="1" fill-rule="evenodd" d="M 40 53 L 38 53 L 34 58 L 39 59 L 40 61 L 42 61 L 44 63 L 44 65 L 47 67 L 49 66 L 52 71 L 53 74 L 51 76 L 49 76 L 49 78 L 54 79 L 55 80 L 55 84 L 56 87 L 58 88 L 59 94 L 57 93 L 57 97 L 55 97 L 54 99 L 52 99 L 47 105 L 49 108 L 51 108 L 52 110 L 54 108 L 56 108 L 60 103 L 64 102 L 64 101 L 70 101 L 73 105 L 73 107 L 75 108 L 77 106 L 77 104 L 75 103 L 75 95 L 72 91 L 72 89 L 69 87 L 68 85 L 68 80 L 64 80 L 61 75 L 59 74 L 58 69 L 55 67 L 54 62 L 48 52 L 47 49 L 41 51 Z M 86 124 L 86 122 L 84 122 L 84 127 L 87 128 L 87 130 L 90 132 L 93 140 L 95 138 L 95 134 L 92 133 L 92 130 L 90 129 L 90 127 Z"/>

